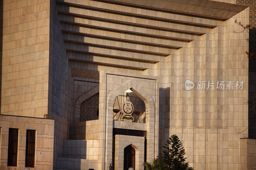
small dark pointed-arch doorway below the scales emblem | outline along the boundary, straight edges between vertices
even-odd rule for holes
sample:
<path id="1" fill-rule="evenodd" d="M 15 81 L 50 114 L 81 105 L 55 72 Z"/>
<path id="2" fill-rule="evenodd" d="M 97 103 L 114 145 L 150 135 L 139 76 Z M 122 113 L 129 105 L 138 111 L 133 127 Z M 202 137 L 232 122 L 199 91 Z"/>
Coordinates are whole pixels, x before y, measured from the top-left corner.
<path id="1" fill-rule="evenodd" d="M 128 145 L 124 148 L 124 170 L 130 167 L 135 170 L 135 149 Z"/>

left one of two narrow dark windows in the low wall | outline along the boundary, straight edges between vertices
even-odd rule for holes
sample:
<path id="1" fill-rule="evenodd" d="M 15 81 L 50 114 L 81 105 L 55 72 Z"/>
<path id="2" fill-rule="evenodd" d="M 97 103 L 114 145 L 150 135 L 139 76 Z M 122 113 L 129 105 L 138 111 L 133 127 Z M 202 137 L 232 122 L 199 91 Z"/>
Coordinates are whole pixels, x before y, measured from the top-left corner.
<path id="1" fill-rule="evenodd" d="M 9 128 L 7 166 L 17 166 L 18 129 Z"/>

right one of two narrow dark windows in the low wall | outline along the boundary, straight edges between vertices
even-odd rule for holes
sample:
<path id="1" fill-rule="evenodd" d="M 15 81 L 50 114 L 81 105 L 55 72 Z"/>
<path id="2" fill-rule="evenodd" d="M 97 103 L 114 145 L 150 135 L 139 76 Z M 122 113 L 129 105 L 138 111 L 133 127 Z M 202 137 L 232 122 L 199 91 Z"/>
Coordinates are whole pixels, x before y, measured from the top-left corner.
<path id="1" fill-rule="evenodd" d="M 36 130 L 27 130 L 26 137 L 26 167 L 35 167 L 35 143 L 36 143 Z"/>

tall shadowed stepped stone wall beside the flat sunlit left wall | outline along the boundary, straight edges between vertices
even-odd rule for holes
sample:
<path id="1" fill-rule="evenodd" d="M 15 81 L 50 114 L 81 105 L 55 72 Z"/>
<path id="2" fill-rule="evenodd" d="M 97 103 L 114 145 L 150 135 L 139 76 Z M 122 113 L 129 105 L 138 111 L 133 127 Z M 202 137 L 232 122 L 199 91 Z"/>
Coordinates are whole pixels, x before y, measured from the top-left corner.
<path id="1" fill-rule="evenodd" d="M 57 4 L 55 0 L 50 2 L 48 117 L 55 119 L 53 153 L 53 169 L 55 169 L 56 159 L 63 156 L 64 140 L 69 137 L 71 76 L 61 37 Z"/>

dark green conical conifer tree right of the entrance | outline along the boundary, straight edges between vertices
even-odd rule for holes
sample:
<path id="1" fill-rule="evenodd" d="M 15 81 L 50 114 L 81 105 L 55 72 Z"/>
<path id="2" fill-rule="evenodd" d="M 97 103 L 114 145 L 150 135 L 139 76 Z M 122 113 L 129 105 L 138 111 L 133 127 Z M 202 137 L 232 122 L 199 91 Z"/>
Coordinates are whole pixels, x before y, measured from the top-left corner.
<path id="1" fill-rule="evenodd" d="M 167 144 L 166 144 L 167 143 Z M 185 149 L 177 135 L 172 135 L 169 140 L 164 144 L 163 154 L 159 155 L 159 160 L 168 167 L 169 170 L 193 170 L 188 166 L 188 162 L 185 162 L 187 158 L 184 158 Z"/>

